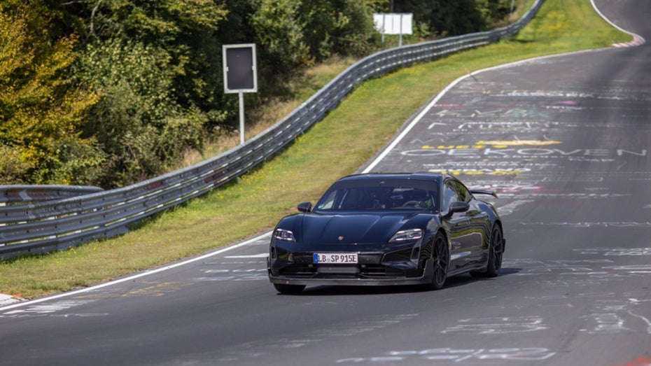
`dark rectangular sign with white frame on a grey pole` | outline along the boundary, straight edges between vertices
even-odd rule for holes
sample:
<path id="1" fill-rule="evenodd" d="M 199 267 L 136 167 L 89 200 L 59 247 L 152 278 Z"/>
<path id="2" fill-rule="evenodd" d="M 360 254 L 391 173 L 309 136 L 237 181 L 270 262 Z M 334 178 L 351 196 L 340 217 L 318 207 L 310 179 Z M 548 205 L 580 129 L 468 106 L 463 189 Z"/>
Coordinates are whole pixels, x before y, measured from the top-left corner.
<path id="1" fill-rule="evenodd" d="M 223 45 L 224 92 L 239 94 L 239 143 L 244 143 L 244 93 L 258 92 L 255 44 Z"/>

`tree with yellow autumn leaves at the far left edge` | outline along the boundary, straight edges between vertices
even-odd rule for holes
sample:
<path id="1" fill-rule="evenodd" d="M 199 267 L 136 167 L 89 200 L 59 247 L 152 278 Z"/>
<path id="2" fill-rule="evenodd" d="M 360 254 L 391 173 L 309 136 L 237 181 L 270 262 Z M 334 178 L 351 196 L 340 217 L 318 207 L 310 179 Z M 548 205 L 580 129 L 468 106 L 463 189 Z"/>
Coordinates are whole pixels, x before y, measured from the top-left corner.
<path id="1" fill-rule="evenodd" d="M 104 158 L 80 137 L 97 96 L 66 71 L 76 36 L 48 34 L 41 1 L 0 4 L 0 183 L 88 184 Z"/>

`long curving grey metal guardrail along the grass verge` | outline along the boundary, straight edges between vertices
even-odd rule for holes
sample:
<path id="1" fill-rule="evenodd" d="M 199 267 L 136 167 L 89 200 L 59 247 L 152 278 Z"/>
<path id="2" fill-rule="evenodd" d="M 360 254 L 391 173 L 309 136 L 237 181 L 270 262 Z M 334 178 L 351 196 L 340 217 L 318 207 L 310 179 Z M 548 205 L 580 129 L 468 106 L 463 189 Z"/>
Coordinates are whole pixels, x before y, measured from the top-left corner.
<path id="1" fill-rule="evenodd" d="M 364 80 L 416 62 L 431 61 L 512 36 L 533 18 L 542 1 L 536 0 L 520 20 L 508 27 L 404 45 L 365 57 L 258 136 L 192 167 L 125 188 L 64 199 L 54 197 L 45 202 L 0 206 L 0 260 L 21 254 L 62 250 L 95 239 L 124 234 L 130 225 L 143 218 L 203 195 L 269 159 L 323 119 Z M 16 187 L 0 186 L 0 196 L 16 197 L 10 193 Z M 52 192 L 59 190 L 56 187 L 60 186 L 52 186 Z M 39 186 L 32 192 L 56 196 L 50 191 L 43 193 L 47 190 Z"/>

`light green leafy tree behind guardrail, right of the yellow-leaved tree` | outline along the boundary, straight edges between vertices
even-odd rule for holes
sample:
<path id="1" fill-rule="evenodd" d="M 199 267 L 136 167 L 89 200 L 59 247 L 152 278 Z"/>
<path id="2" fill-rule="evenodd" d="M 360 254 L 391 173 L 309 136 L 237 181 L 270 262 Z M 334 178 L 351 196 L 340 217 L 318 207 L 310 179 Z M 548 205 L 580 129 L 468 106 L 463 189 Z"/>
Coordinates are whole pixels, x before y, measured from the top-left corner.
<path id="1" fill-rule="evenodd" d="M 174 69 L 167 52 L 113 39 L 89 45 L 76 75 L 101 99 L 86 125 L 108 158 L 102 185 L 137 183 L 164 171 L 184 148 L 200 148 L 207 119 L 186 113 L 174 99 Z"/>

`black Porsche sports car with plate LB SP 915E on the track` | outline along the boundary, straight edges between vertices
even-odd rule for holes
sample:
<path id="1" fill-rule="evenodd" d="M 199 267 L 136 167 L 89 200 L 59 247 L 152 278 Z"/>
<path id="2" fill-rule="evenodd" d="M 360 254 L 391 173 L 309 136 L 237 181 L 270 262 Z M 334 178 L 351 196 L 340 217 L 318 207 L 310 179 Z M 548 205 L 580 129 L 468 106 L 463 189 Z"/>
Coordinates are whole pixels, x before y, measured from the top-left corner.
<path id="1" fill-rule="evenodd" d="M 449 276 L 498 276 L 505 248 L 495 208 L 445 174 L 358 174 L 280 220 L 269 280 L 280 293 L 307 285 L 442 288 Z"/>

